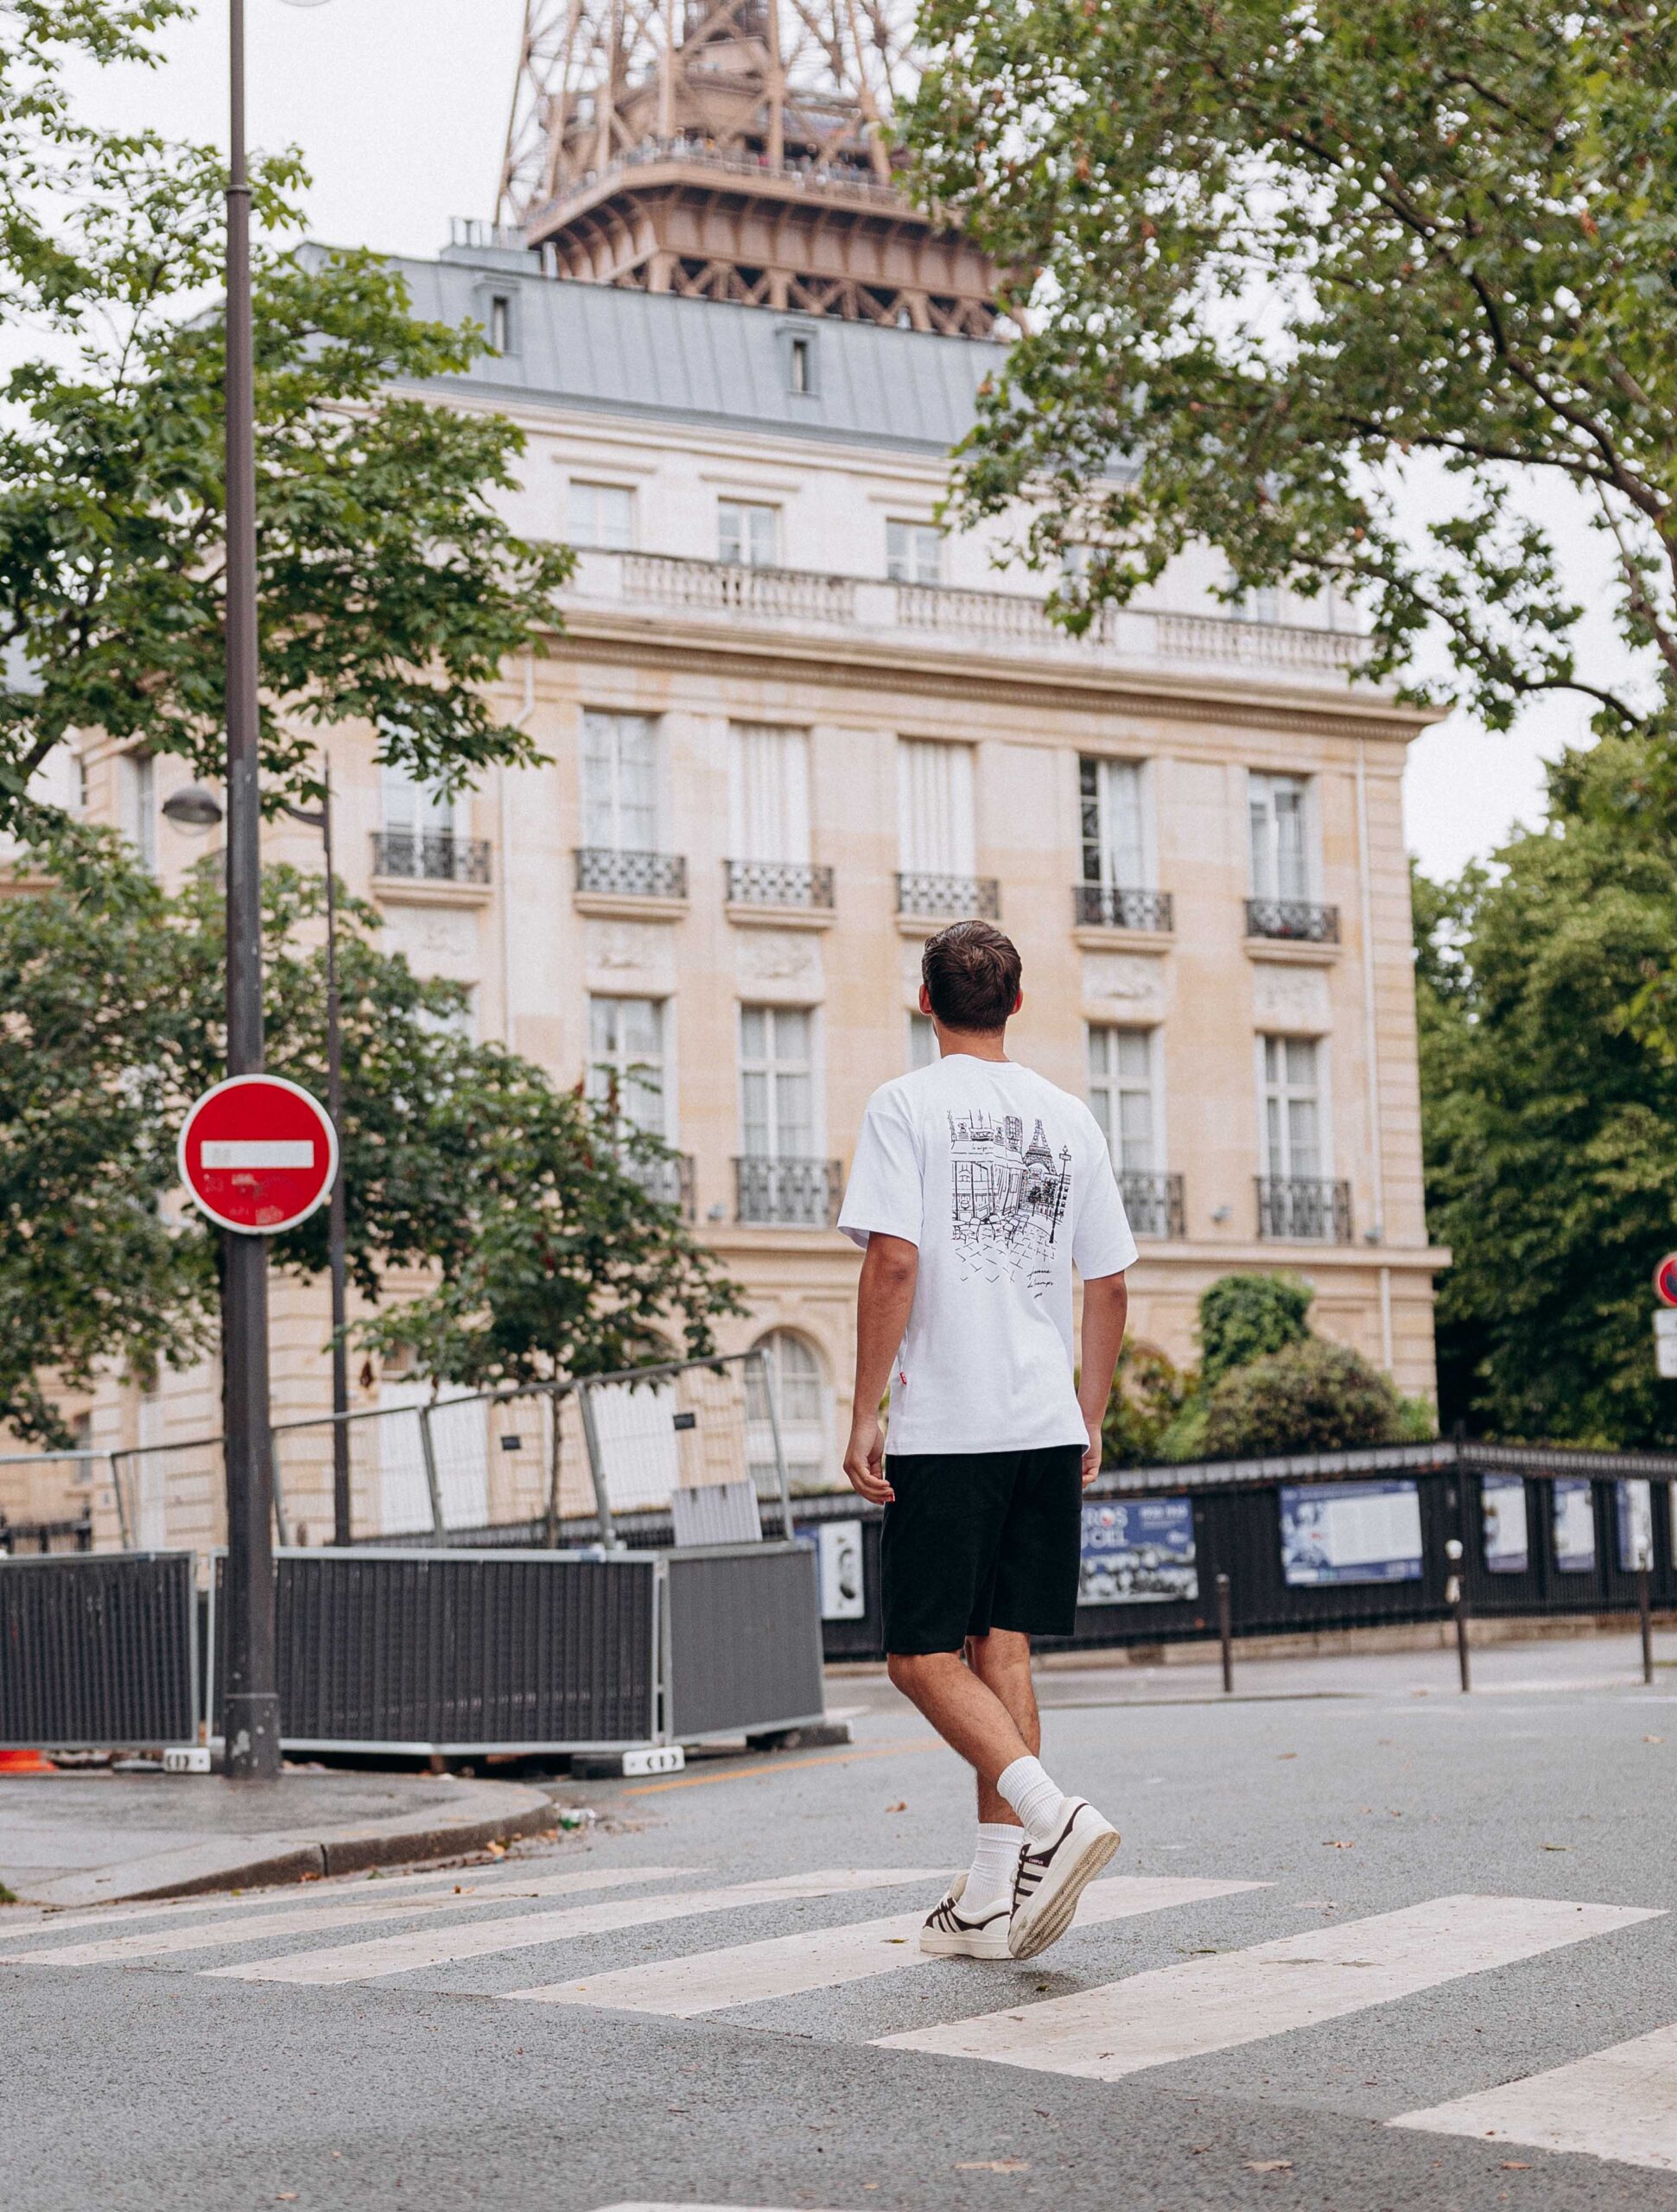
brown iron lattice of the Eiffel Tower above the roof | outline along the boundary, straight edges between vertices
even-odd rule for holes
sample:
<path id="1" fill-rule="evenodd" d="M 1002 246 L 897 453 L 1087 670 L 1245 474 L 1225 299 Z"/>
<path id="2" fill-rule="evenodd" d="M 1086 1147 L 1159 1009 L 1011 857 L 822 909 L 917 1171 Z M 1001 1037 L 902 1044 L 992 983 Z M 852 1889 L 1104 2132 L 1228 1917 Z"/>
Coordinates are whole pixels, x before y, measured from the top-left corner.
<path id="1" fill-rule="evenodd" d="M 562 276 L 982 336 L 896 186 L 907 0 L 524 0 L 498 221 Z"/>

